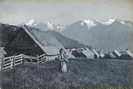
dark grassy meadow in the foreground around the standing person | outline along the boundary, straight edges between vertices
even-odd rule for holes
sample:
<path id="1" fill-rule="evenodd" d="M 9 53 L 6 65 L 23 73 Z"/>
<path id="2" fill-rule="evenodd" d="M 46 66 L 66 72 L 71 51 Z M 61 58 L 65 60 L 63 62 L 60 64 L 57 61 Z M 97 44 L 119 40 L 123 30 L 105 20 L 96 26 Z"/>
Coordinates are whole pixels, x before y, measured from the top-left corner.
<path id="1" fill-rule="evenodd" d="M 133 85 L 132 61 L 71 59 L 67 73 L 59 71 L 59 64 L 20 65 L 3 73 L 3 88 L 104 89 Z"/>

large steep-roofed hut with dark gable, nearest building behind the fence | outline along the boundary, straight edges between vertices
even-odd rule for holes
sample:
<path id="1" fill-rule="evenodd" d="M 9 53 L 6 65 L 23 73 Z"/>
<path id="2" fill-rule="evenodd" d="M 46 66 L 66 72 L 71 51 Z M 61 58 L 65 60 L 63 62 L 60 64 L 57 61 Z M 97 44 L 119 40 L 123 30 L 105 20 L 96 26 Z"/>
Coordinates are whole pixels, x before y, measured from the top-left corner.
<path id="1" fill-rule="evenodd" d="M 13 41 L 6 46 L 8 56 L 12 55 L 31 55 L 41 54 L 56 55 L 62 44 L 46 31 L 23 25 L 17 32 Z"/>

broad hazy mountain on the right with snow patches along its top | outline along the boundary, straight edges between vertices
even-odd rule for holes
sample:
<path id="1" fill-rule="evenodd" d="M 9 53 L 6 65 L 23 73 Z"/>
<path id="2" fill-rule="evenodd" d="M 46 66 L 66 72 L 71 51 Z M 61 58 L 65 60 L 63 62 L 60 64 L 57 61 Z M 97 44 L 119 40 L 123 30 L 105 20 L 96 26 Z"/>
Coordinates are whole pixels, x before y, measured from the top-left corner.
<path id="1" fill-rule="evenodd" d="M 133 23 L 119 19 L 81 20 L 67 26 L 64 36 L 95 48 L 133 50 Z"/>

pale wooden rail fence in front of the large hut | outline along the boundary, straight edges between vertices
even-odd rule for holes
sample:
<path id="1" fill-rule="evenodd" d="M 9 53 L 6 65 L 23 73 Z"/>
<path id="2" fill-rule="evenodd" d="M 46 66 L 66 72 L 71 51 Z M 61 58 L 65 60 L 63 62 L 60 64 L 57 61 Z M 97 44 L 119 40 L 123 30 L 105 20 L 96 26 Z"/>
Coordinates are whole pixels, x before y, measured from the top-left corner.
<path id="1" fill-rule="evenodd" d="M 32 57 L 32 56 L 20 54 L 17 56 L 5 57 L 2 60 L 1 70 L 13 69 L 15 66 L 26 63 L 26 62 L 28 62 L 28 63 L 43 63 L 43 62 L 55 60 L 55 58 L 58 58 L 58 55 L 42 54 L 38 57 Z"/>

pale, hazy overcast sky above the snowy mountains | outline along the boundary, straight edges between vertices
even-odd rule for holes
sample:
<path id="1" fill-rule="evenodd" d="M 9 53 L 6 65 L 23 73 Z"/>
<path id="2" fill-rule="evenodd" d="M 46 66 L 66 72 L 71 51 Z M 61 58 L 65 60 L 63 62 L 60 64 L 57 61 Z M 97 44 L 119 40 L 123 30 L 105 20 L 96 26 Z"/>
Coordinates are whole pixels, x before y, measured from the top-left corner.
<path id="1" fill-rule="evenodd" d="M 133 0 L 0 0 L 0 22 L 71 24 L 117 18 L 133 21 Z"/>

